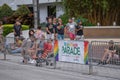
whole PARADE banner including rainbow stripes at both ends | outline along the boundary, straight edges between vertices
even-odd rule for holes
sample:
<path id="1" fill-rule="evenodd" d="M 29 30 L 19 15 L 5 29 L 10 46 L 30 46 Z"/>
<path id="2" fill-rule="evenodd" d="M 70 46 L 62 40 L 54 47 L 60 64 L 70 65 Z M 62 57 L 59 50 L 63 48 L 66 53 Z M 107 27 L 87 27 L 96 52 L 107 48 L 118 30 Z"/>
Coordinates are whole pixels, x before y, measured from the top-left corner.
<path id="1" fill-rule="evenodd" d="M 56 61 L 88 63 L 88 42 L 55 41 L 54 55 Z"/>

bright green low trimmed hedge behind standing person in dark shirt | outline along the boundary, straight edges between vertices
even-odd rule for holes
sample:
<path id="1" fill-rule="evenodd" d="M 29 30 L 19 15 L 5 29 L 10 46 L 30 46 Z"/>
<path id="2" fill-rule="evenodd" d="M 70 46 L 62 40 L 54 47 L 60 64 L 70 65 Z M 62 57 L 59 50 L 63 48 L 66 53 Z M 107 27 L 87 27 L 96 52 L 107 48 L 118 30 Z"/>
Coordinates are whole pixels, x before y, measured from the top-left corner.
<path id="1" fill-rule="evenodd" d="M 9 33 L 13 32 L 13 24 L 5 24 L 3 25 L 3 35 L 6 36 Z M 22 30 L 28 30 L 29 26 L 28 25 L 22 25 Z"/>

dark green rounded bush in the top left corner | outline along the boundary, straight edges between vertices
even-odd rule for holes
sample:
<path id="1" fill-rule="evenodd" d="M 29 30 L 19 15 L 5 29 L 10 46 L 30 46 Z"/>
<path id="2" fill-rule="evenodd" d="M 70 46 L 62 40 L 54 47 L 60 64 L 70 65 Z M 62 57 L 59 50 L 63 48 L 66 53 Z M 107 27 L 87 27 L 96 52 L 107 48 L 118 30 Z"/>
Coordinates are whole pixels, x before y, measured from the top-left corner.
<path id="1" fill-rule="evenodd" d="M 11 16 L 12 14 L 13 11 L 7 4 L 3 4 L 0 7 L 0 18 L 8 17 Z"/>

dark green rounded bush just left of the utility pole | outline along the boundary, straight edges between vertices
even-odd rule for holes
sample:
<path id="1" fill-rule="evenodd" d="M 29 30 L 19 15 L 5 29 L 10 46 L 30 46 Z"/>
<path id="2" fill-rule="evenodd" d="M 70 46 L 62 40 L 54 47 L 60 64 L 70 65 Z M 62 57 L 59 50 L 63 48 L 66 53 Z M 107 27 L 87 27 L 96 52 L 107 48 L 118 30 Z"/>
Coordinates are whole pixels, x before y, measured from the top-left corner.
<path id="1" fill-rule="evenodd" d="M 18 15 L 18 16 L 20 15 L 23 16 L 27 14 L 30 14 L 30 10 L 25 5 L 20 6 L 14 13 L 14 15 Z"/>

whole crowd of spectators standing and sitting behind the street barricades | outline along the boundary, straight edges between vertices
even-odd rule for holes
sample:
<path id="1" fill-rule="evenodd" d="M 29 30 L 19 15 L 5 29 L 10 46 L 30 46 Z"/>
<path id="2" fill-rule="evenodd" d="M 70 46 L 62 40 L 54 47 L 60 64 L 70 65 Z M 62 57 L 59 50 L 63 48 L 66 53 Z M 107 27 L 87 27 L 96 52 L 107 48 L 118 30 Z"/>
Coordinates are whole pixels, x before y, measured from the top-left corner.
<path id="1" fill-rule="evenodd" d="M 74 18 L 69 18 L 68 23 L 64 25 L 61 18 L 47 18 L 46 30 L 43 31 L 41 26 L 37 29 L 30 29 L 29 46 L 27 46 L 28 40 L 21 37 L 22 25 L 19 20 L 13 26 L 13 32 L 15 37 L 15 44 L 6 44 L 11 48 L 10 53 L 21 53 L 23 56 L 23 62 L 35 63 L 36 58 L 45 59 L 49 53 L 53 51 L 54 40 L 64 40 L 65 36 L 68 36 L 70 40 L 84 40 L 82 21 L 74 21 Z M 46 35 L 45 35 L 46 32 Z M 0 42 L 2 42 L 3 26 L 0 21 Z M 112 42 L 111 42 L 112 43 Z M 26 47 L 27 46 L 27 47 Z M 105 49 L 105 53 L 98 64 L 103 64 L 105 57 L 108 55 L 108 59 L 105 63 L 109 63 L 112 55 L 116 53 L 113 48 Z M 29 57 L 29 60 L 28 60 Z"/>

